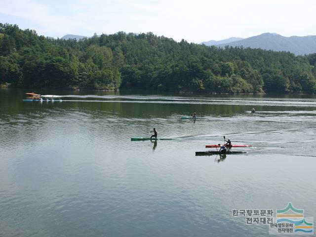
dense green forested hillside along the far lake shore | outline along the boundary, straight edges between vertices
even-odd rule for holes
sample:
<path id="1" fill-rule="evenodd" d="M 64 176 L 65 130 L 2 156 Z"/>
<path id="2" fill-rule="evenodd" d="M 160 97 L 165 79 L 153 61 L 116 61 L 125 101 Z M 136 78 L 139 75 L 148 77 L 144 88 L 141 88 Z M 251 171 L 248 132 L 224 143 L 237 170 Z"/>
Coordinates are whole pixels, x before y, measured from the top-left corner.
<path id="1" fill-rule="evenodd" d="M 0 84 L 207 93 L 316 92 L 316 54 L 207 47 L 152 33 L 60 40 L 0 24 Z"/>

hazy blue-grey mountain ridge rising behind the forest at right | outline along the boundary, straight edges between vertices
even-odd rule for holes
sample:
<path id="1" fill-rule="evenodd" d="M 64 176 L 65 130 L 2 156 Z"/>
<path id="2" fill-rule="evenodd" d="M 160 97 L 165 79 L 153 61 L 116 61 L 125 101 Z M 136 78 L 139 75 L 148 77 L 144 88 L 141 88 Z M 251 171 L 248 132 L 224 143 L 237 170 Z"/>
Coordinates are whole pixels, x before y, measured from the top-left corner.
<path id="1" fill-rule="evenodd" d="M 316 36 L 284 37 L 276 33 L 264 33 L 243 40 L 217 44 L 216 46 L 225 47 L 226 45 L 233 47 L 261 48 L 273 51 L 290 51 L 296 55 L 304 55 L 316 53 Z"/>

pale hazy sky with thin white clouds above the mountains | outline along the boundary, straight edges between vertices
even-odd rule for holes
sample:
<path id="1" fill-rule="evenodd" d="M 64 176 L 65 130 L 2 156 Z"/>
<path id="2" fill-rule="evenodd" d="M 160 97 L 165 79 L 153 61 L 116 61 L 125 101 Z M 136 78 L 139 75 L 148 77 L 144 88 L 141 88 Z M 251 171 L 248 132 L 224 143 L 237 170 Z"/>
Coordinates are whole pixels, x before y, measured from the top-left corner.
<path id="1" fill-rule="evenodd" d="M 153 32 L 199 43 L 316 35 L 316 0 L 0 0 L 0 22 L 61 38 Z"/>

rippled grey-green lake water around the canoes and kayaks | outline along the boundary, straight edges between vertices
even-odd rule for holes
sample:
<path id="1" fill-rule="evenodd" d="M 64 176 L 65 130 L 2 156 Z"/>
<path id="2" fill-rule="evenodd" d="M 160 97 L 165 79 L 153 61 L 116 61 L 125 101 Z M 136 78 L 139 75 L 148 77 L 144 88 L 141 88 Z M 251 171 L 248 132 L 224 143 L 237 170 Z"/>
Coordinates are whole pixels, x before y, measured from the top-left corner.
<path id="1" fill-rule="evenodd" d="M 65 97 L 0 89 L 1 237 L 261 237 L 232 210 L 288 202 L 316 218 L 315 96 L 34 91 Z M 177 140 L 131 141 L 154 127 Z M 224 135 L 253 147 L 195 156 Z"/>

